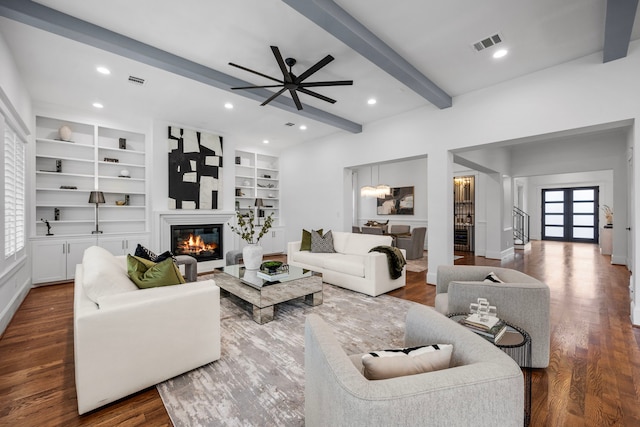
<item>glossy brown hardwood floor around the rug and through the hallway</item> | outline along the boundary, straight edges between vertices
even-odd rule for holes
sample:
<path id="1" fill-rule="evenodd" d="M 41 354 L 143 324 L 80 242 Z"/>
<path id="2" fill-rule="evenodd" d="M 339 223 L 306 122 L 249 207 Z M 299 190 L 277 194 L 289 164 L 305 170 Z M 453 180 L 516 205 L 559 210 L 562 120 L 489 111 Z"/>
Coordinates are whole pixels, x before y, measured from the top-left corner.
<path id="1" fill-rule="evenodd" d="M 534 370 L 531 426 L 639 426 L 640 329 L 629 322 L 629 272 L 596 245 L 533 242 L 506 262 L 551 288 L 551 363 Z M 391 295 L 433 305 L 425 274 Z M 32 289 L 0 339 L 0 425 L 171 425 L 155 388 L 77 415 L 73 284 Z"/>

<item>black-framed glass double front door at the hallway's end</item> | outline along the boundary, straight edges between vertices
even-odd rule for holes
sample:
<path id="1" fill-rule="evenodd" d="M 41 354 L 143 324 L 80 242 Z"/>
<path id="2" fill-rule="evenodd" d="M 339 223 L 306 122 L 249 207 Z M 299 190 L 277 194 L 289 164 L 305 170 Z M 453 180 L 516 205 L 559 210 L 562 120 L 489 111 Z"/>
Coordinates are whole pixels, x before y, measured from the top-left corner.
<path id="1" fill-rule="evenodd" d="M 596 243 L 598 187 L 542 190 L 542 240 Z"/>

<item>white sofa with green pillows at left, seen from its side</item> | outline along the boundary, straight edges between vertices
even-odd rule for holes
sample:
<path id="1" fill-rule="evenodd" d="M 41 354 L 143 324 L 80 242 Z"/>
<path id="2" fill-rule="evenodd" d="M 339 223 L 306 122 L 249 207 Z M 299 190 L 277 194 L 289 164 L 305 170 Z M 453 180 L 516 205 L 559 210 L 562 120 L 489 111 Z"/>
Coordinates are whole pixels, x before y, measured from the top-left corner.
<path id="1" fill-rule="evenodd" d="M 73 323 L 80 414 L 220 358 L 213 280 L 138 289 L 98 246 L 76 267 Z"/>

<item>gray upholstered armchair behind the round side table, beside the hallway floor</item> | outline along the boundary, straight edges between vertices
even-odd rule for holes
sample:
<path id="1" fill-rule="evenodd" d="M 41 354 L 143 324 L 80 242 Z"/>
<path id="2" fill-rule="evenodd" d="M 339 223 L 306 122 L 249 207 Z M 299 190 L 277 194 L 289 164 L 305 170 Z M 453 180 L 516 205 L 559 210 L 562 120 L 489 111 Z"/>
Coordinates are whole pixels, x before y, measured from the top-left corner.
<path id="1" fill-rule="evenodd" d="M 505 283 L 485 282 L 489 273 Z M 486 298 L 498 317 L 531 336 L 532 368 L 549 366 L 551 342 L 550 292 L 545 283 L 520 271 L 479 265 L 441 265 L 436 280 L 436 310 L 466 313 L 469 304 Z"/>

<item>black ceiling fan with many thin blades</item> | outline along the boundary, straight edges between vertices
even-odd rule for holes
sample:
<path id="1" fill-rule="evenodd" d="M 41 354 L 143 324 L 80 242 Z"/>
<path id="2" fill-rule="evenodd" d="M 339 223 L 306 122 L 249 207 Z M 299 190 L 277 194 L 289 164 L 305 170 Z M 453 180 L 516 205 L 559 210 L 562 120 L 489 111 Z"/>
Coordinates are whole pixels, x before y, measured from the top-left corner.
<path id="1" fill-rule="evenodd" d="M 265 77 L 269 80 L 273 80 L 278 82 L 277 85 L 266 85 L 266 86 L 242 86 L 242 87 L 232 87 L 231 89 L 260 89 L 260 88 L 271 88 L 271 87 L 282 87 L 278 92 L 274 93 L 267 100 L 265 100 L 260 105 L 267 105 L 278 96 L 282 95 L 285 91 L 289 91 L 291 97 L 293 98 L 293 102 L 296 104 L 298 110 L 302 110 L 302 103 L 300 102 L 300 98 L 298 97 L 297 92 L 301 92 L 307 95 L 311 95 L 315 98 L 322 99 L 323 101 L 330 102 L 334 104 L 336 102 L 335 99 L 331 99 L 327 96 L 320 95 L 317 92 L 313 92 L 307 88 L 309 87 L 319 87 L 319 86 L 348 86 L 353 84 L 353 80 L 334 80 L 327 82 L 305 82 L 309 76 L 313 73 L 327 65 L 329 62 L 334 60 L 334 57 L 331 55 L 325 56 L 323 59 L 318 61 L 315 65 L 309 68 L 304 73 L 296 76 L 291 71 L 291 68 L 296 64 L 296 60 L 293 58 L 282 59 L 282 55 L 280 54 L 280 49 L 277 46 L 271 46 L 271 51 L 273 52 L 273 56 L 276 57 L 276 61 L 278 62 L 278 66 L 280 67 L 280 71 L 282 71 L 283 80 L 276 79 L 271 76 L 267 76 L 266 74 L 259 73 L 254 70 L 250 70 L 249 68 L 243 67 L 242 65 L 234 64 L 233 62 L 229 62 L 229 65 L 233 67 L 240 68 L 241 70 L 249 71 L 250 73 L 257 74 L 259 76 Z M 287 71 L 286 66 L 289 66 L 289 71 Z"/>

